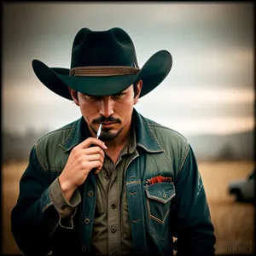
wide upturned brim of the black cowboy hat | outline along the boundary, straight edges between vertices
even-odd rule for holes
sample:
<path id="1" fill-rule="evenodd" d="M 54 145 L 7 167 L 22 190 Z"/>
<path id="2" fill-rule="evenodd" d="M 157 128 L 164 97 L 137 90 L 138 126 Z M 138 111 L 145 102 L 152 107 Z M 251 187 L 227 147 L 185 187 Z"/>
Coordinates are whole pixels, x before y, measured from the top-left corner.
<path id="1" fill-rule="evenodd" d="M 42 61 L 33 60 L 32 68 L 38 79 L 59 96 L 73 100 L 68 87 L 87 95 L 109 96 L 127 89 L 135 81 L 142 79 L 140 97 L 158 86 L 172 68 L 172 55 L 160 50 L 152 55 L 136 75 L 76 77 L 69 75 L 69 69 L 48 67 Z"/>

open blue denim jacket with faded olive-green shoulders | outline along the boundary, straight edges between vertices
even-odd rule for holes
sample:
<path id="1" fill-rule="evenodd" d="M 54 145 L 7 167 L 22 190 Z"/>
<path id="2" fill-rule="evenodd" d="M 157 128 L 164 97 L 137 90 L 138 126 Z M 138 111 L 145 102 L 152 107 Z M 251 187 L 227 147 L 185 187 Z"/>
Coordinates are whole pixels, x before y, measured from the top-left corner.
<path id="1" fill-rule="evenodd" d="M 216 238 L 207 197 L 188 141 L 176 131 L 144 118 L 134 109 L 137 150 L 125 176 L 133 254 L 213 255 Z M 90 255 L 96 208 L 96 177 L 79 187 L 70 207 L 71 224 L 61 224 L 50 192 L 72 148 L 90 137 L 83 117 L 49 132 L 32 148 L 12 211 L 12 232 L 26 255 Z M 85 127 L 85 128 L 84 128 Z M 85 132 L 84 132 L 85 131 Z M 172 182 L 148 184 L 152 177 Z M 170 178 L 169 178 L 170 180 Z M 59 206 L 60 209 L 66 207 Z M 67 206 L 68 208 L 68 206 Z M 68 211 L 68 210 L 67 210 Z M 173 243 L 173 238 L 177 241 Z"/>

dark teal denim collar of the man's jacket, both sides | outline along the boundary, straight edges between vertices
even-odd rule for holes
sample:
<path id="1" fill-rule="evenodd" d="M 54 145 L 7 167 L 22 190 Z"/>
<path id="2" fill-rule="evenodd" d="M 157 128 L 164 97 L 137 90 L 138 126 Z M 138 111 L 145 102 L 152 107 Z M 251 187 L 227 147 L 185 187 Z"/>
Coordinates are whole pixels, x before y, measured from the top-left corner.
<path id="1" fill-rule="evenodd" d="M 135 126 L 138 147 L 141 147 L 151 153 L 164 151 L 155 137 L 154 131 L 148 123 L 148 119 L 145 119 L 135 108 L 132 113 L 132 121 Z M 65 152 L 68 152 L 79 143 L 82 143 L 87 137 L 90 137 L 90 131 L 84 117 L 81 117 L 73 123 L 67 139 L 64 143 L 60 144 L 60 147 L 63 148 Z"/>

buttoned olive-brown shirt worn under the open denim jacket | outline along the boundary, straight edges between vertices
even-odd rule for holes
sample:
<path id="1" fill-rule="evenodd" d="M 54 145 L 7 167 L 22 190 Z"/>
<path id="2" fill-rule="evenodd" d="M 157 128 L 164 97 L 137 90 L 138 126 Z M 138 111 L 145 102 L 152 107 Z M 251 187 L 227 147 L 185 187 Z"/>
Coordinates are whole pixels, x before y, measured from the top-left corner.
<path id="1" fill-rule="evenodd" d="M 125 172 L 135 149 L 133 131 L 116 163 L 105 154 L 102 170 L 96 174 L 96 212 L 90 247 L 92 255 L 125 255 L 132 252 Z"/>

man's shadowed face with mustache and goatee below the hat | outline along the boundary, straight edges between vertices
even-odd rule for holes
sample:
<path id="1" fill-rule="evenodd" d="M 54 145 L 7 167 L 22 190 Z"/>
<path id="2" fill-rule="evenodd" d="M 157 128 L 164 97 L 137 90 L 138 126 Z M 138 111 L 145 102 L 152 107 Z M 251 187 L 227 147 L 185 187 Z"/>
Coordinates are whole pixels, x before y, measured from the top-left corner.
<path id="1" fill-rule="evenodd" d="M 137 96 L 134 97 L 133 85 L 113 96 L 88 96 L 70 89 L 74 102 L 89 126 L 91 134 L 95 134 L 102 123 L 102 141 L 111 141 L 119 134 L 130 129 L 133 105 L 137 103 L 142 81 L 137 83 Z"/>

